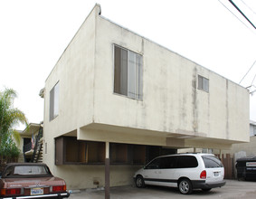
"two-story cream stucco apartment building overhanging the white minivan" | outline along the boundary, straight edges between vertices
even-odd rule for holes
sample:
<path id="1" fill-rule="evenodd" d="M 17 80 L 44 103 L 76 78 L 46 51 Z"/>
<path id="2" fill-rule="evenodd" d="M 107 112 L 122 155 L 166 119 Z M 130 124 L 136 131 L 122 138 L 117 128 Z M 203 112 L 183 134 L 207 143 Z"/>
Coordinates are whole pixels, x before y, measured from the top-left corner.
<path id="1" fill-rule="evenodd" d="M 45 82 L 43 162 L 69 189 L 128 185 L 177 148 L 249 141 L 249 92 L 95 7 Z M 108 177 L 108 176 L 107 176 Z"/>

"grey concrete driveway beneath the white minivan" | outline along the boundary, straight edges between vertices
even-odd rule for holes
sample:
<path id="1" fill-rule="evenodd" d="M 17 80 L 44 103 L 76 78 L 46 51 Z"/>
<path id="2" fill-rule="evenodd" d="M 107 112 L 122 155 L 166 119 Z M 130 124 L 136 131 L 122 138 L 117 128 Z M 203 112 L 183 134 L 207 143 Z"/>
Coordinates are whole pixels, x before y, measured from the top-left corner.
<path id="1" fill-rule="evenodd" d="M 201 190 L 195 190 L 193 194 L 180 194 L 176 188 L 147 186 L 146 188 L 138 189 L 135 186 L 119 186 L 110 189 L 111 199 L 197 199 L 197 198 L 256 198 L 256 182 L 226 180 L 226 185 L 222 188 L 214 188 L 208 193 Z M 102 199 L 104 198 L 104 190 L 86 190 L 80 193 L 71 194 L 71 199 Z"/>

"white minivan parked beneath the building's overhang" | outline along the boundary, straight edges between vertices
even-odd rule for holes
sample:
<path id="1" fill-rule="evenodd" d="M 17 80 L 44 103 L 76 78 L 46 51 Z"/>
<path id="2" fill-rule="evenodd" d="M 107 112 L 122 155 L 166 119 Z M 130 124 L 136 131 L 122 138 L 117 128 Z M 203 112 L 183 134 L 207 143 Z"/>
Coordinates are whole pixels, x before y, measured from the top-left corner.
<path id="1" fill-rule="evenodd" d="M 193 189 L 210 191 L 225 185 L 224 167 L 213 154 L 175 154 L 158 156 L 134 175 L 137 187 L 162 185 L 178 187 L 181 194 Z"/>

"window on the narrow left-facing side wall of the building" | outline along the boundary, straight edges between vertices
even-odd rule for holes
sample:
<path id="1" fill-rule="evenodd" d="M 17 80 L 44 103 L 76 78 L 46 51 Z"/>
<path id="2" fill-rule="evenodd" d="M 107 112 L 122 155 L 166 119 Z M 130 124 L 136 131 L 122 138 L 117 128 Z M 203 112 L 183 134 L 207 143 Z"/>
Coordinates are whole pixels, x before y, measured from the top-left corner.
<path id="1" fill-rule="evenodd" d="M 59 115 L 59 82 L 50 91 L 50 121 Z"/>

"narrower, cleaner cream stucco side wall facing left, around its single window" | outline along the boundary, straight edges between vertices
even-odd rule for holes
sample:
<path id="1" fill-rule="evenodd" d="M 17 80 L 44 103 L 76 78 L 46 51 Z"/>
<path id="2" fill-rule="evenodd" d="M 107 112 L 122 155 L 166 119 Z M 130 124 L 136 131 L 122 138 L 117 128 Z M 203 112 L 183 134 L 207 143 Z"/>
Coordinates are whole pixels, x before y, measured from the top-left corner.
<path id="1" fill-rule="evenodd" d="M 43 130 L 47 153 L 44 151 L 43 161 L 51 167 L 54 166 L 54 137 L 62 136 L 93 121 L 97 12 L 99 10 L 92 10 L 45 82 Z M 57 82 L 60 84 L 59 115 L 50 121 L 50 90 Z"/>

